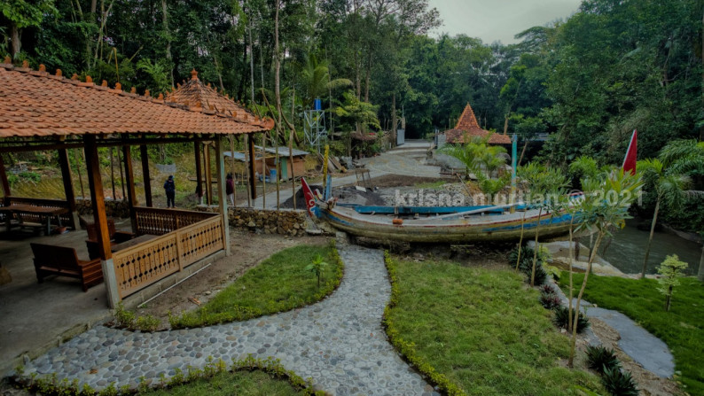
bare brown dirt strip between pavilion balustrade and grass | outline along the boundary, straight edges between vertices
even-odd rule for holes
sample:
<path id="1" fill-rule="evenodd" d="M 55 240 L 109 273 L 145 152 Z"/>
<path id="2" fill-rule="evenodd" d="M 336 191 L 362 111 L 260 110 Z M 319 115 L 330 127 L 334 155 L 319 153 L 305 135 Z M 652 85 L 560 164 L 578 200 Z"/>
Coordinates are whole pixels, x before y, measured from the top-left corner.
<path id="1" fill-rule="evenodd" d="M 228 284 L 242 276 L 271 254 L 295 245 L 325 245 L 329 237 L 284 237 L 281 235 L 255 235 L 246 230 L 231 229 L 232 255 L 215 261 L 207 269 L 169 289 L 137 314 L 152 314 L 161 320 L 159 330 L 168 329 L 168 312 L 180 314 L 199 307 Z"/>

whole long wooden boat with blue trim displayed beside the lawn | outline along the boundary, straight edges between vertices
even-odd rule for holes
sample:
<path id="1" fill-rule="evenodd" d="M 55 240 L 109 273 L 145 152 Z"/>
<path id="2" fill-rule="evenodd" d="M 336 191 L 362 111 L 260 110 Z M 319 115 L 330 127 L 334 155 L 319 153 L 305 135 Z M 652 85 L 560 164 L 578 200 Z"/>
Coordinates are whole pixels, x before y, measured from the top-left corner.
<path id="1" fill-rule="evenodd" d="M 461 208 L 346 206 L 317 203 L 318 217 L 335 229 L 356 237 L 385 241 L 466 243 L 480 241 L 518 241 L 521 223 L 525 239 L 536 236 L 538 210 L 519 206 L 463 206 Z M 434 213 L 434 210 L 437 212 Z M 456 213 L 447 214 L 455 211 Z M 373 213 L 373 214 L 372 214 Z M 445 214 L 441 214 L 445 213 Z M 403 214 L 409 214 L 406 217 Z M 418 215 L 416 215 L 418 214 Z M 525 217 L 524 217 L 525 216 Z M 559 237 L 569 232 L 571 214 L 543 211 L 541 238 Z M 577 219 L 575 219 L 575 224 Z"/>

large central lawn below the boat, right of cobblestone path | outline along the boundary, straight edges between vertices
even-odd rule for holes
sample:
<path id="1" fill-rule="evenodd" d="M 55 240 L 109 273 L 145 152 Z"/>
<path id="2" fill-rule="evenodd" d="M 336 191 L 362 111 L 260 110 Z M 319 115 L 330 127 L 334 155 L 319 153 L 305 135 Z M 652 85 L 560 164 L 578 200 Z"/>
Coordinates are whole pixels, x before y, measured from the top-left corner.
<path id="1" fill-rule="evenodd" d="M 604 393 L 595 375 L 565 368 L 568 338 L 522 276 L 450 261 L 395 262 L 389 322 L 467 394 L 583 394 L 577 386 Z"/>

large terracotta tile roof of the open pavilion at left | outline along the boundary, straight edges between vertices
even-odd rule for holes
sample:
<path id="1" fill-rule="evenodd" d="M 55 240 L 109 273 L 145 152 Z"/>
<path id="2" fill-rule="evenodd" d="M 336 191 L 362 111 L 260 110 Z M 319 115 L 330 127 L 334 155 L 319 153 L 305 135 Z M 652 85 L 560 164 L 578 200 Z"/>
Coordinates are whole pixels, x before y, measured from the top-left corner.
<path id="1" fill-rule="evenodd" d="M 110 89 L 87 77 L 67 79 L 40 66 L 0 63 L 0 137 L 153 134 L 243 134 L 273 127 L 245 113 L 234 117 L 207 108 L 177 105 L 148 95 Z M 147 92 L 148 94 L 148 92 Z"/>

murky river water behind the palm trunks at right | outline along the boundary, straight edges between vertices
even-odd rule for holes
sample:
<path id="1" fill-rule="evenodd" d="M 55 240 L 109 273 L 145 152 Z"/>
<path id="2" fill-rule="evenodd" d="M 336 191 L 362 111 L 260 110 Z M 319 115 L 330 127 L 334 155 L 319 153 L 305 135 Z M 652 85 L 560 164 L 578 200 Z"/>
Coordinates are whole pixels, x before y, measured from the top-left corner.
<path id="1" fill-rule="evenodd" d="M 626 228 L 614 232 L 614 239 L 606 249 L 606 254 L 602 254 L 602 249 L 599 248 L 599 255 L 604 260 L 609 261 L 615 268 L 621 269 L 626 274 L 640 273 L 645 259 L 645 245 L 648 243 L 649 232 L 637 229 L 636 223 L 635 220 L 627 221 Z M 589 240 L 583 240 L 583 244 L 589 244 Z M 697 274 L 701 258 L 701 245 L 664 232 L 655 232 L 653 235 L 647 273 L 657 273 L 657 266 L 665 260 L 665 256 L 671 254 L 677 254 L 679 260 L 689 264 L 685 271 L 686 274 Z"/>

